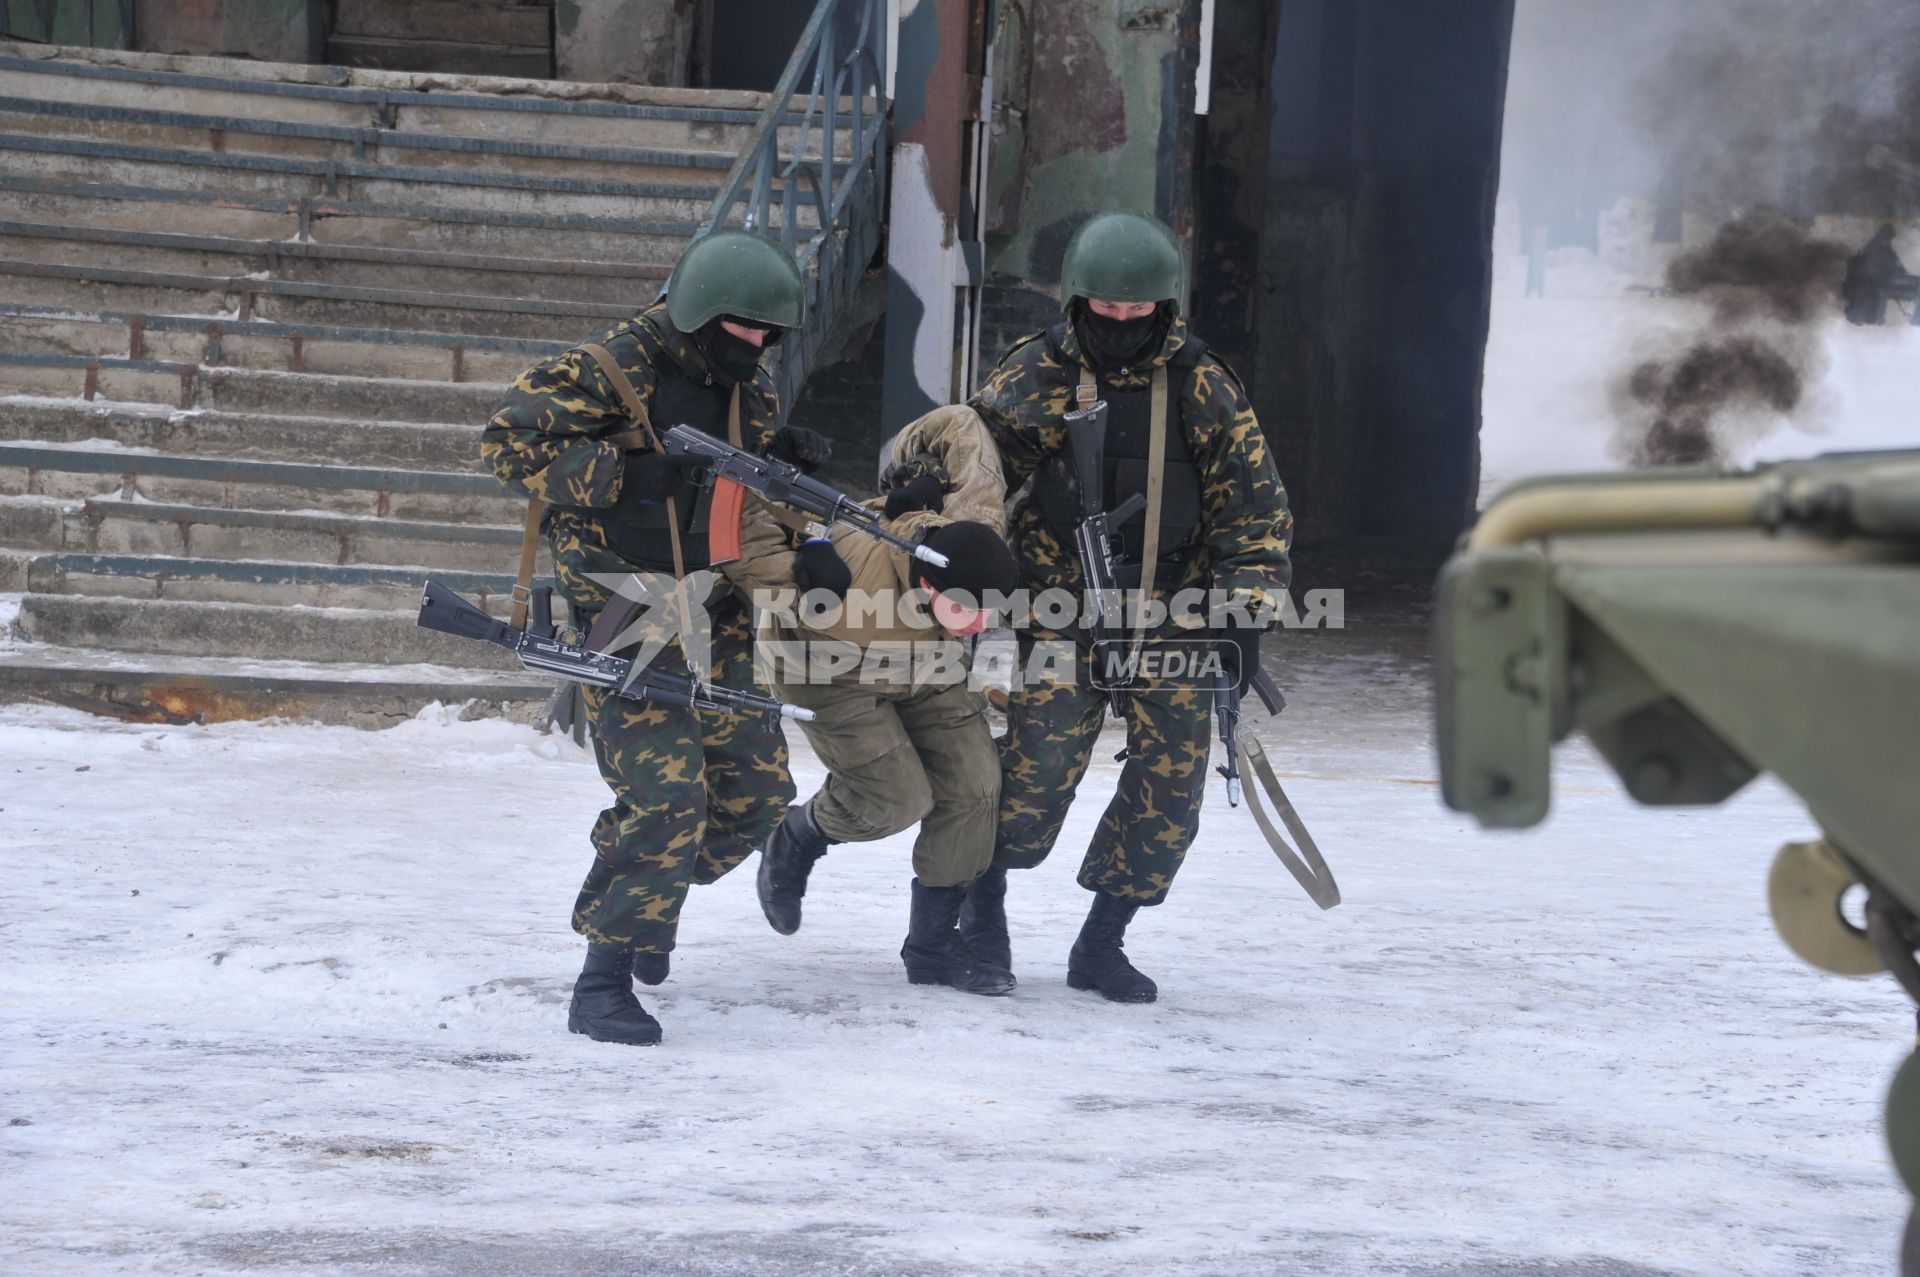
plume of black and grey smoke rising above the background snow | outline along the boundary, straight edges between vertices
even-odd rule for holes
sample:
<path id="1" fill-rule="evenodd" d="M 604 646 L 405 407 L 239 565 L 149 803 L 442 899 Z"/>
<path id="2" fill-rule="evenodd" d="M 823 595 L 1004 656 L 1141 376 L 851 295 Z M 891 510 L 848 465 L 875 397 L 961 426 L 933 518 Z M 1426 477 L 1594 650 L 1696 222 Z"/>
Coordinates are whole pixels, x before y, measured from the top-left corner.
<path id="1" fill-rule="evenodd" d="M 1638 83 L 1642 134 L 1715 225 L 1667 288 L 1703 305 L 1615 386 L 1628 465 L 1711 463 L 1805 421 L 1860 244 L 1816 225 L 1920 217 L 1916 0 L 1697 0 Z M 1864 242 L 1866 234 L 1859 234 Z"/>

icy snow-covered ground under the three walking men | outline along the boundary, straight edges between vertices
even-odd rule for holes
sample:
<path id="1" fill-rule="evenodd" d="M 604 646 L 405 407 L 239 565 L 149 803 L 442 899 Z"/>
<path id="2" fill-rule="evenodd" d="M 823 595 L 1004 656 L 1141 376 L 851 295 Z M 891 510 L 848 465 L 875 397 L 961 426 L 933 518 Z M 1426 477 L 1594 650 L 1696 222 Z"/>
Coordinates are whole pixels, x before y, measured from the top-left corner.
<path id="1" fill-rule="evenodd" d="M 0 709 L 0 1271 L 1891 1271 L 1912 1012 L 1774 939 L 1799 805 L 1649 812 L 1567 751 L 1546 828 L 1480 833 L 1423 636 L 1290 643 L 1265 732 L 1340 908 L 1215 782 L 1129 941 L 1162 1000 L 1071 993 L 1104 764 L 1014 879 L 1010 999 L 904 981 L 897 837 L 795 937 L 697 891 L 657 1048 L 564 1029 L 570 745 Z"/>

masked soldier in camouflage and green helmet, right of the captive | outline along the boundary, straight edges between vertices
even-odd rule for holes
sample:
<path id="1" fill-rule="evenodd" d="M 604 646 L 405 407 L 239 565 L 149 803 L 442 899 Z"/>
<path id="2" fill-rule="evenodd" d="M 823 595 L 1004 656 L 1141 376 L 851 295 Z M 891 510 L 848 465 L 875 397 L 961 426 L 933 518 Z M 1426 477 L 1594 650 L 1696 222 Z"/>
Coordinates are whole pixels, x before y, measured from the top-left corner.
<path id="1" fill-rule="evenodd" d="M 1012 518 L 1021 586 L 1073 595 L 1083 588 L 1073 545 L 1079 488 L 1062 417 L 1098 398 L 1108 403 L 1102 509 L 1146 492 L 1152 470 L 1162 474 L 1152 597 L 1167 603 L 1181 590 L 1213 590 L 1271 626 L 1292 578 L 1286 492 L 1240 380 L 1206 353 L 1179 315 L 1181 253 L 1171 232 L 1133 213 L 1089 219 L 1068 246 L 1060 294 L 1066 319 L 1018 342 L 972 399 L 998 444 L 1008 492 L 1033 480 Z M 1150 447 L 1156 396 L 1165 396 L 1160 455 Z M 1140 586 L 1146 517 L 1119 526 L 1117 584 L 1129 591 Z M 1213 613 L 1215 622 L 1221 614 Z M 1194 634 L 1179 620 L 1169 614 L 1146 638 Z M 1242 691 L 1258 663 L 1260 628 L 1215 624 L 1202 632 L 1231 653 Z M 1091 678 L 1085 628 L 1023 630 L 1023 670 L 1041 645 L 1069 659 L 1044 666 L 1052 674 L 1039 682 L 1014 680 L 1000 741 L 995 866 L 970 887 L 960 918 L 968 945 L 1002 968 L 1012 966 L 1006 870 L 1033 868 L 1052 851 L 1108 709 Z M 1127 762 L 1079 872 L 1094 895 L 1068 958 L 1075 989 L 1117 1002 L 1158 997 L 1154 981 L 1127 962 L 1121 939 L 1142 904 L 1165 899 L 1194 839 L 1210 711 L 1212 691 L 1190 684 L 1137 682 L 1125 697 Z"/>

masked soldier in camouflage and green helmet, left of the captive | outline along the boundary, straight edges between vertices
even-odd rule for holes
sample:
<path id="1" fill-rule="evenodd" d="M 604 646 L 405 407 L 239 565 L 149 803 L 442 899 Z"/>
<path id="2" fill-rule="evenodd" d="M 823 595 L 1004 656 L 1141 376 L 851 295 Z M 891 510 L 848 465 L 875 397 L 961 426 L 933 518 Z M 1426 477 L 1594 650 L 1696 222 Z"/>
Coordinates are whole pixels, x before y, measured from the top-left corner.
<path id="1" fill-rule="evenodd" d="M 720 230 L 687 248 L 664 303 L 599 340 L 639 413 L 586 346 L 528 369 L 507 392 L 480 451 L 511 492 L 549 503 L 553 572 L 582 626 L 612 599 L 609 580 L 707 566 L 699 472 L 612 436 L 684 422 L 803 467 L 826 461 L 826 440 L 778 424 L 780 396 L 760 369 L 762 348 L 801 323 L 801 275 L 781 248 Z M 751 689 L 747 601 L 722 584 L 705 614 L 712 678 Z M 685 666 L 666 618 L 641 620 L 624 638 L 666 639 L 657 664 Z M 595 1041 L 657 1043 L 660 1025 L 636 1000 L 632 977 L 666 977 L 687 887 L 737 866 L 780 822 L 793 799 L 787 745 L 755 718 L 641 705 L 597 687 L 584 697 L 614 801 L 593 824 L 593 868 L 574 904 L 588 958 L 568 1027 Z"/>

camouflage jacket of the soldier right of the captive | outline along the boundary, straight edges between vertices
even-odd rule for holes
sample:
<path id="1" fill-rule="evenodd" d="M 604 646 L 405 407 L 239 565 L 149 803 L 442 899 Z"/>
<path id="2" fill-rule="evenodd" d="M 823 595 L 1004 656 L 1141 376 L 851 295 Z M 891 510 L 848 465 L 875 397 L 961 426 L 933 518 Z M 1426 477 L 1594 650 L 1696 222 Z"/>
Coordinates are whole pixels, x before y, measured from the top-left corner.
<path id="1" fill-rule="evenodd" d="M 1121 390 L 1144 390 L 1154 369 L 1179 355 L 1190 340 L 1187 321 L 1175 319 L 1148 365 L 1106 380 Z M 1054 357 L 1044 334 L 1016 342 L 968 401 L 1000 449 L 1008 492 L 1018 492 L 1043 461 L 1068 449 L 1060 419 L 1073 409 L 1081 369 L 1071 326 L 1060 353 Z M 1281 607 L 1279 595 L 1292 582 L 1288 551 L 1294 517 L 1246 392 L 1219 359 L 1206 353 L 1192 376 L 1175 380 L 1175 386 L 1185 394 L 1181 424 L 1200 469 L 1202 553 L 1188 580 L 1156 582 L 1156 593 L 1202 586 L 1223 590 L 1235 603 L 1254 609 Z M 1016 503 L 1012 511 L 1012 545 L 1025 586 L 1079 588 L 1073 545 L 1062 543 L 1029 501 Z"/>

